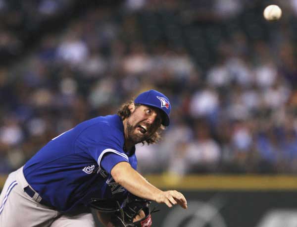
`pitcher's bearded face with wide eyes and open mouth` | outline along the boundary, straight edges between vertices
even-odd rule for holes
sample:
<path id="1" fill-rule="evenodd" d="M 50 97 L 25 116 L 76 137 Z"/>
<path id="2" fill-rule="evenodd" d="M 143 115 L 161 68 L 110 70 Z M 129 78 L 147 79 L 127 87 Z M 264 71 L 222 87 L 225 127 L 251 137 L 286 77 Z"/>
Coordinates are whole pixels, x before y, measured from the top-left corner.
<path id="1" fill-rule="evenodd" d="M 126 136 L 132 143 L 137 144 L 149 139 L 160 127 L 161 111 L 145 105 L 130 107 Z"/>

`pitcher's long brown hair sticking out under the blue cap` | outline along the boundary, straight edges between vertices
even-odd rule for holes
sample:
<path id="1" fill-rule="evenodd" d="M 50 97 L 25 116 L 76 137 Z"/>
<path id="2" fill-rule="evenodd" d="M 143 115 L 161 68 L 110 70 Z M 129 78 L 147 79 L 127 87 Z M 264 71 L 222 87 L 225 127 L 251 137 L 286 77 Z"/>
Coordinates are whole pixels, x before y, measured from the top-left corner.
<path id="1" fill-rule="evenodd" d="M 129 110 L 129 106 L 134 103 L 132 100 L 128 103 L 124 103 L 118 110 L 118 115 L 122 118 L 122 120 L 128 118 L 131 115 L 131 111 Z M 141 106 L 141 104 L 135 103 L 135 108 L 138 108 Z M 154 144 L 157 143 L 161 139 L 161 133 L 165 129 L 165 127 L 161 124 L 158 130 L 147 140 L 147 144 Z M 142 142 L 142 144 L 145 144 L 145 142 Z"/>

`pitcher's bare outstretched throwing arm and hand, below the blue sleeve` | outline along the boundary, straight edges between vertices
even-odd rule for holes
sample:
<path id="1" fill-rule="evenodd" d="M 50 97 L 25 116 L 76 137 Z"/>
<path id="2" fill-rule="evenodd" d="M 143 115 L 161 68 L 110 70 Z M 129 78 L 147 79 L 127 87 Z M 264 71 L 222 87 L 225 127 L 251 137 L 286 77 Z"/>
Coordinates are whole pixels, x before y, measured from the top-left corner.
<path id="1" fill-rule="evenodd" d="M 136 196 L 157 203 L 165 203 L 168 207 L 179 204 L 182 208 L 187 209 L 187 200 L 182 193 L 175 190 L 162 191 L 156 188 L 134 170 L 128 162 L 116 164 L 111 170 L 111 175 L 117 183 Z"/>

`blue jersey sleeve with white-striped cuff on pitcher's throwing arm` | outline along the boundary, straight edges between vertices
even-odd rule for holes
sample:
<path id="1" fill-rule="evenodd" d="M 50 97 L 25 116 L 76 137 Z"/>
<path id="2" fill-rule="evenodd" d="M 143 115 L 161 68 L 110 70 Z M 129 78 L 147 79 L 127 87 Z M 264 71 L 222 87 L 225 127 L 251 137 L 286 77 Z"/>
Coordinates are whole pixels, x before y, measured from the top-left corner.
<path id="1" fill-rule="evenodd" d="M 110 171 L 119 162 L 129 162 L 128 156 L 123 151 L 123 145 L 123 133 L 106 123 L 89 126 L 80 134 L 76 142 L 77 151 L 87 152 L 106 171 Z M 110 159 L 105 159 L 109 154 L 113 155 Z M 103 157 L 105 168 L 101 165 Z"/>

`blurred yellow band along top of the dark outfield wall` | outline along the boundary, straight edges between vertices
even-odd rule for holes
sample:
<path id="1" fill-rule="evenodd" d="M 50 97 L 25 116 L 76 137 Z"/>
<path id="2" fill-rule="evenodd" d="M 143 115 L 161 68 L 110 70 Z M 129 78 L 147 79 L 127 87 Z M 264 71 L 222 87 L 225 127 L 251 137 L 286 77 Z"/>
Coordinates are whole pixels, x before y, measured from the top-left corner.
<path id="1" fill-rule="evenodd" d="M 145 175 L 150 183 L 162 189 L 177 190 L 297 190 L 297 175 L 226 175 L 173 174 Z M 0 175 L 0 189 L 7 175 Z"/>

